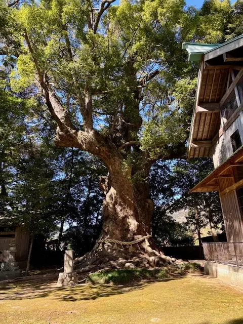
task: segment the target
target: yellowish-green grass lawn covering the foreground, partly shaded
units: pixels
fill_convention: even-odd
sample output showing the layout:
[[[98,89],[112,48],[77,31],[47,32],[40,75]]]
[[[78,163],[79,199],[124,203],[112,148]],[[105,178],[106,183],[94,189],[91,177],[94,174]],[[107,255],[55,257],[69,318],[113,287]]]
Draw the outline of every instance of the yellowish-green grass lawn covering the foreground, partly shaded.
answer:
[[[54,287],[33,281],[0,286],[0,323],[243,323],[243,294],[203,275],[129,287]]]

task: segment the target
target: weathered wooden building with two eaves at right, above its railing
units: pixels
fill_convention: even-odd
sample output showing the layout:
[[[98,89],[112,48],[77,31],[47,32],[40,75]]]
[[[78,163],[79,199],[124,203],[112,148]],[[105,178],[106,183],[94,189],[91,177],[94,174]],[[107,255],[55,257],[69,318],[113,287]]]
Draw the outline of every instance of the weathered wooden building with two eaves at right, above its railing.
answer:
[[[215,170],[190,192],[218,191],[228,242],[243,242],[243,35],[220,45],[183,43],[200,61],[188,158]]]

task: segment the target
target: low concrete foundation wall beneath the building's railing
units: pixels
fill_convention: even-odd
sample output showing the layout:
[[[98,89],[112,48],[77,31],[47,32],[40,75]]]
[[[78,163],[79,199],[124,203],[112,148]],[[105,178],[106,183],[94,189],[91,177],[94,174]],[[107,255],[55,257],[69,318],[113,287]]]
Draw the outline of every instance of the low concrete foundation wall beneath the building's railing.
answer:
[[[205,262],[205,274],[218,278],[228,285],[243,288],[243,268],[229,266],[212,261]]]

